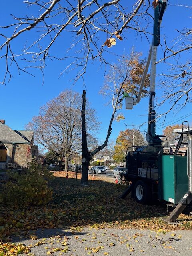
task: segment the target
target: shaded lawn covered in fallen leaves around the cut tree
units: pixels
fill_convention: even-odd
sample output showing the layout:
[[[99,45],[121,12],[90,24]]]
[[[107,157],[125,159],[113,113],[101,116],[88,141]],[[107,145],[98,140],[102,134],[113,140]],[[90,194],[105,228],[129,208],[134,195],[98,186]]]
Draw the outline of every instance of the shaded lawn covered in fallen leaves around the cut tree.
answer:
[[[63,172],[56,173],[64,176]],[[17,208],[0,206],[0,236],[7,238],[22,234],[29,236],[37,228],[138,228],[159,230],[192,229],[192,217],[180,215],[182,224],[168,225],[160,217],[166,216],[164,205],[141,205],[134,199],[119,199],[125,187],[109,182],[90,180],[90,186],[80,186],[69,173],[55,177],[50,186],[54,190],[52,202],[44,206]],[[66,174],[65,174],[66,176]]]

